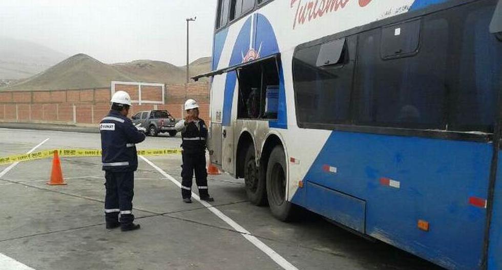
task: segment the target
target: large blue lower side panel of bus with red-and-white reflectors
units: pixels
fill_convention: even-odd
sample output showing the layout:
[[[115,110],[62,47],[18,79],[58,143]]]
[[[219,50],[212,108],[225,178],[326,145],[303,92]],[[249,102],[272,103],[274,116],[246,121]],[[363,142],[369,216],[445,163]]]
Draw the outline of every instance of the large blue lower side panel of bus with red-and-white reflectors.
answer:
[[[303,181],[366,201],[368,235],[447,268],[472,270],[482,258],[486,209],[479,201],[487,196],[491,158],[488,143],[334,131]],[[292,201],[308,207],[315,199],[309,188]]]

